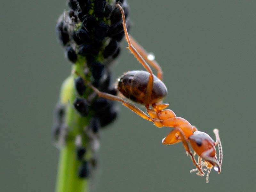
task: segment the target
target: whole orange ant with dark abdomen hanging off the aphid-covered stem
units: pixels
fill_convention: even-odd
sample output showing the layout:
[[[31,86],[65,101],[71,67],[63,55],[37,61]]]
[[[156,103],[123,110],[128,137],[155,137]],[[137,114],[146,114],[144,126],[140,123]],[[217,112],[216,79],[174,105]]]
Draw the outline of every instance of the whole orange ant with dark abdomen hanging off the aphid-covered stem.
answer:
[[[206,183],[208,183],[209,174],[212,167],[214,167],[214,170],[218,171],[218,173],[221,171],[222,147],[218,129],[213,130],[216,137],[216,141],[214,142],[214,140],[212,140],[208,134],[199,132],[197,128],[192,126],[186,119],[177,117],[170,109],[165,109],[169,106],[169,104],[163,104],[161,102],[167,95],[167,88],[161,81],[163,74],[162,69],[155,60],[148,59],[148,53],[131,36],[128,35],[125,24],[124,10],[119,3],[117,3],[116,6],[122,13],[122,24],[126,41],[128,43],[127,48],[147,70],[129,71],[124,73],[124,75],[118,79],[117,89],[126,98],[145,105],[148,115],[121,97],[100,92],[97,88],[92,86],[92,84],[87,84],[94,90],[94,92],[98,94],[99,97],[121,101],[125,107],[131,109],[142,118],[152,121],[157,127],[174,127],[174,129],[162,140],[162,143],[174,144],[182,141],[187,155],[191,157],[192,162],[196,165],[196,169],[193,169],[190,172],[197,172],[197,175],[204,176],[204,171],[208,170],[206,175]],[[156,69],[157,77],[153,75],[150,66],[145,60],[149,63],[149,65]],[[79,75],[78,73],[76,74]],[[152,108],[149,108],[150,105]],[[188,143],[190,143],[191,147],[195,151],[195,154],[198,155],[198,163],[190,151]],[[217,160],[216,157],[216,145],[218,145],[219,148],[219,160]]]

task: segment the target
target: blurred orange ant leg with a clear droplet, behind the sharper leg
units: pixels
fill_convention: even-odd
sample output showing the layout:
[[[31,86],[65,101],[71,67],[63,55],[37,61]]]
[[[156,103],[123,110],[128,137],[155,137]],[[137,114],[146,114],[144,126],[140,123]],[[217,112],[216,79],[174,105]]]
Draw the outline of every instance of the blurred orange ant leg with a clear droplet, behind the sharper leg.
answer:
[[[163,71],[160,67],[160,65],[156,62],[156,60],[149,60],[148,59],[148,52],[143,49],[143,47],[136,42],[136,40],[130,35],[131,44],[134,46],[134,48],[140,53],[141,57],[148,62],[149,65],[151,65],[153,68],[157,71],[157,77],[158,79],[162,80],[163,78]]]

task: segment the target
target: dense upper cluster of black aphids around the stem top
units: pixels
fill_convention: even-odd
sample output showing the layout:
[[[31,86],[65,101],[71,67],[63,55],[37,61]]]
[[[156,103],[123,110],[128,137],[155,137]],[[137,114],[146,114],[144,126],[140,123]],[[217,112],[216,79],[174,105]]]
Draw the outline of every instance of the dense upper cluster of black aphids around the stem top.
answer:
[[[126,1],[121,2],[123,2],[126,20],[130,26],[128,5]],[[116,1],[112,1],[108,4],[106,0],[68,1],[70,10],[60,16],[57,24],[57,34],[61,45],[69,46],[66,49],[68,60],[75,63],[80,55],[85,57],[87,63],[90,64],[89,62],[99,60],[102,51],[104,57],[100,58],[101,60],[107,58],[111,60],[117,57],[120,52],[119,42],[124,37],[124,29],[121,21],[122,15],[115,7],[115,3]]]

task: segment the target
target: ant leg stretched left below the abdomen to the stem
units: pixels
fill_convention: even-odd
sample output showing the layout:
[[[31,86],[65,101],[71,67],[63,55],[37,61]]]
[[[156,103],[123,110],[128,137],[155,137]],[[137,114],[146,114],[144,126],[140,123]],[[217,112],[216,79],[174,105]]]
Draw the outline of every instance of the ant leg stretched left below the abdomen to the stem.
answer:
[[[104,98],[110,99],[110,100],[121,101],[125,107],[131,109],[133,112],[137,113],[142,118],[147,119],[148,121],[152,121],[151,117],[149,117],[146,113],[144,113],[143,111],[141,111],[139,108],[137,108],[135,105],[132,105],[128,101],[123,100],[121,97],[101,92],[96,87],[94,87],[92,84],[90,84],[90,83],[87,83],[87,84],[93,89],[94,92],[96,92],[98,94],[99,97],[104,97]]]

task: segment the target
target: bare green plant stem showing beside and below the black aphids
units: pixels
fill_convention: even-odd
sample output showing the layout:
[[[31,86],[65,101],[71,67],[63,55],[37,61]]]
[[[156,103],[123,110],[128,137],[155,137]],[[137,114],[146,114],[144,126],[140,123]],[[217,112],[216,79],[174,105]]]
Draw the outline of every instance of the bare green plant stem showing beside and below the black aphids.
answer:
[[[72,68],[83,74],[84,61],[78,61]],[[76,98],[76,90],[74,87],[74,78],[76,74],[73,72],[63,82],[60,91],[60,102],[66,105],[65,123],[67,125],[67,138],[65,146],[60,150],[60,159],[56,183],[56,192],[85,192],[88,191],[88,179],[78,177],[79,165],[81,161],[76,159],[75,138],[80,135],[82,145],[88,146],[88,138],[84,134],[84,127],[88,125],[91,115],[86,117],[80,116],[74,109],[72,103]],[[86,95],[84,96],[86,98]],[[88,156],[87,156],[88,157]]]

